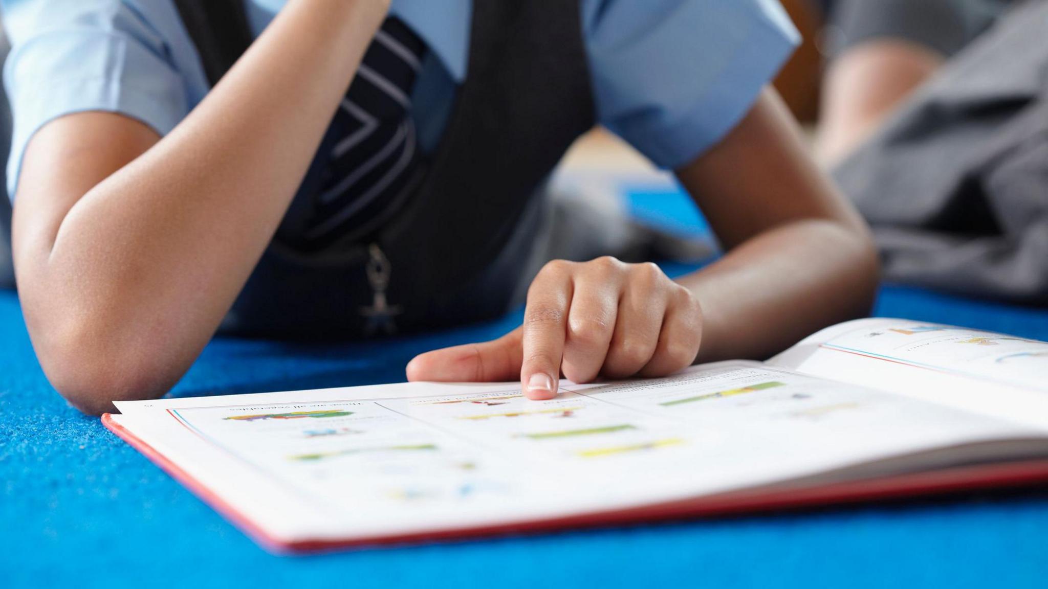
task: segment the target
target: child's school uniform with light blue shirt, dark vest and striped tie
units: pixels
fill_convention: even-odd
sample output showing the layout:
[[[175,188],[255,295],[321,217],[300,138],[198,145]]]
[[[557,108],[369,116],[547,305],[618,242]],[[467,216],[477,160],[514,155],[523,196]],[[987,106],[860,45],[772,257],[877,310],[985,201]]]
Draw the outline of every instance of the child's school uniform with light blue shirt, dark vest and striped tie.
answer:
[[[0,4],[10,194],[46,122],[105,110],[162,135],[221,74],[184,3]],[[246,0],[250,35],[282,4]],[[660,167],[689,162],[796,37],[774,0],[394,0],[224,328],[342,335],[504,312],[546,222],[537,194],[580,134],[599,123]]]

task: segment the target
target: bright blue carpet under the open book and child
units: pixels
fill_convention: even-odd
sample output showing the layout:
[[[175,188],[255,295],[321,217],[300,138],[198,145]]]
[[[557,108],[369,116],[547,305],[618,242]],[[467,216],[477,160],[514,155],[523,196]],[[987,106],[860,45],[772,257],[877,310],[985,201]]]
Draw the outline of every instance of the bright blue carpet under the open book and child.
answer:
[[[1048,340],[1048,310],[907,288],[877,314]],[[387,383],[489,325],[384,343],[218,340],[174,394]],[[63,402],[16,297],[0,292],[0,587],[1045,587],[1048,493],[569,531],[320,557],[274,557],[137,452]]]

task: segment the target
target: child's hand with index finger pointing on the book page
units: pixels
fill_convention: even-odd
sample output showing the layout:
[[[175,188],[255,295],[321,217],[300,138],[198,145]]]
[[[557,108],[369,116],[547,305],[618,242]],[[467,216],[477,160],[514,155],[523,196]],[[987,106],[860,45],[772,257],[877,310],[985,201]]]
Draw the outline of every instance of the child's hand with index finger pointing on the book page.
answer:
[[[702,311],[694,294],[652,263],[614,258],[552,261],[528,290],[524,325],[482,344],[444,348],[408,364],[410,380],[498,381],[520,376],[524,393],[552,398],[561,373],[661,376],[699,351]]]

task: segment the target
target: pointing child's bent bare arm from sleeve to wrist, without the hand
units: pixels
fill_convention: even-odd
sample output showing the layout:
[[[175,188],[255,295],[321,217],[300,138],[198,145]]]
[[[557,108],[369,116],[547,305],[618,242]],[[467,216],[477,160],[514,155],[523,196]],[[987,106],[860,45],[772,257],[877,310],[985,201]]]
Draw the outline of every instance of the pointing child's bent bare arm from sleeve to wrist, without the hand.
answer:
[[[678,281],[702,306],[700,362],[766,357],[869,312],[878,278],[869,230],[773,92],[677,175],[727,249]]]

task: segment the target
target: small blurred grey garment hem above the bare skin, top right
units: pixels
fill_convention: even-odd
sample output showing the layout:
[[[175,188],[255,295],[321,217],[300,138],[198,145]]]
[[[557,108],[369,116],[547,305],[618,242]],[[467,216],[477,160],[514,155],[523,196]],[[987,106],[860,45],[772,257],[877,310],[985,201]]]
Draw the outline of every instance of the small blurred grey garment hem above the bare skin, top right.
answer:
[[[829,50],[892,38],[953,56],[986,30],[1012,0],[821,0]]]

